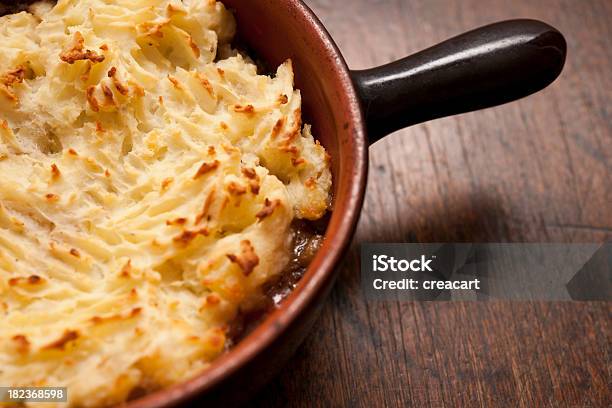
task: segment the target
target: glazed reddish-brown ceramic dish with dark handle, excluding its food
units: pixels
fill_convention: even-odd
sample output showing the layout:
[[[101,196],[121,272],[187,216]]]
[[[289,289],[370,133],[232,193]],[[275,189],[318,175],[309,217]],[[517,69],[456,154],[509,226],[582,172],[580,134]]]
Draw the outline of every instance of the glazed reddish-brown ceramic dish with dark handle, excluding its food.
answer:
[[[369,143],[404,126],[526,96],[551,83],[565,61],[557,30],[513,20],[383,67],[350,71],[301,1],[223,2],[235,13],[241,40],[269,67],[293,61],[305,121],[332,157],[333,213],[320,251],[278,309],[200,375],[130,401],[131,408],[231,406],[252,397],[294,353],[334,283],[361,211]]]

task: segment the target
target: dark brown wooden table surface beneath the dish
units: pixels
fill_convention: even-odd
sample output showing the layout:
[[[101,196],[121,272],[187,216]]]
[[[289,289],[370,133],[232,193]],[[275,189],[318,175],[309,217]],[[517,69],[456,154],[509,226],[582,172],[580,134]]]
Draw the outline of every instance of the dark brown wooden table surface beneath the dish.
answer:
[[[305,343],[254,406],[606,407],[611,303],[369,302],[359,243],[612,236],[612,1],[309,0],[351,68],[529,17],[568,41],[537,95],[370,148],[363,214]]]

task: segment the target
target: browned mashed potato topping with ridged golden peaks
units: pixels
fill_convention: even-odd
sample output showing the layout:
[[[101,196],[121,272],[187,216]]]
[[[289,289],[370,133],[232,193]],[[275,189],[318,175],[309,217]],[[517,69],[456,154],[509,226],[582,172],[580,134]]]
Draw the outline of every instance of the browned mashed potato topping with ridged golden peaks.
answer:
[[[71,405],[184,380],[328,208],[291,62],[258,75],[204,0],[0,18],[0,385]]]

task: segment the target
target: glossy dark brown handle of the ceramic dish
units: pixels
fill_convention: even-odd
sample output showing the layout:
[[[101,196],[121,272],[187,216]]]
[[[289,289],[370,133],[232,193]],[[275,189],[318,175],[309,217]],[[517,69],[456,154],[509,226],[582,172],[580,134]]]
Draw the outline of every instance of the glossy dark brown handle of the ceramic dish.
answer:
[[[370,143],[406,126],[510,102],[563,69],[563,35],[536,20],[509,20],[451,38],[381,67],[352,71]]]

